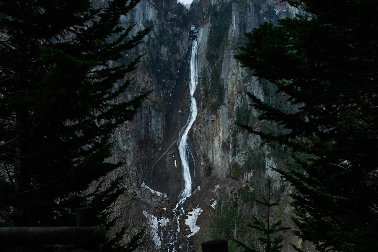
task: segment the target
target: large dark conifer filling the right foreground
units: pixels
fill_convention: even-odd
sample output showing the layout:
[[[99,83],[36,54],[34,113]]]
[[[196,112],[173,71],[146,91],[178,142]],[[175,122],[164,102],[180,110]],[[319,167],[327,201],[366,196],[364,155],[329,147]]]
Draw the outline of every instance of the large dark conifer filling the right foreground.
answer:
[[[296,157],[302,170],[277,169],[298,192],[291,195],[296,235],[319,251],[376,251],[378,5],[287,2],[309,16],[264,23],[247,34],[249,42],[235,56],[288,97],[271,107],[250,95],[262,111],[259,119],[285,133],[249,130],[308,155]]]

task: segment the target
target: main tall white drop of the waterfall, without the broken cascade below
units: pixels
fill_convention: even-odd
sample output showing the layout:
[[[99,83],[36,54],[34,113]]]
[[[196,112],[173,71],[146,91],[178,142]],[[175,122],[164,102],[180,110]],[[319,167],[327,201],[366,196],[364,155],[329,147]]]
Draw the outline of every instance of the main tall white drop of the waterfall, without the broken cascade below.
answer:
[[[190,59],[191,81],[189,84],[189,92],[190,92],[190,99],[191,99],[191,106],[190,106],[191,113],[187,119],[185,126],[180,131],[180,135],[179,135],[179,139],[177,143],[178,151],[179,151],[180,159],[181,159],[181,164],[183,167],[183,179],[184,179],[184,189],[180,194],[181,198],[189,197],[192,194],[192,178],[191,178],[190,170],[189,170],[189,154],[191,156],[193,155],[187,143],[187,136],[188,136],[189,130],[191,129],[197,117],[197,102],[193,97],[195,88],[197,87],[197,83],[198,83],[198,66],[197,65],[198,65],[197,40],[193,40],[192,53],[191,53],[191,59]]]

